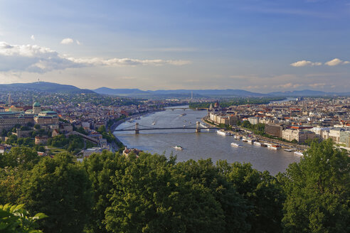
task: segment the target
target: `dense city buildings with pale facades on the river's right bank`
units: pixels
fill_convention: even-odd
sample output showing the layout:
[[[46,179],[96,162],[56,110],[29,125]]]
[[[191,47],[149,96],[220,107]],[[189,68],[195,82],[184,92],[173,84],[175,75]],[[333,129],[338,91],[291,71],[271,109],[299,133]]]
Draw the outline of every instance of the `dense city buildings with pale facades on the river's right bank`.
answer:
[[[265,134],[303,143],[333,139],[350,147],[350,98],[299,98],[270,104],[245,104],[221,108],[216,102],[208,119],[235,126],[237,121],[265,124]]]

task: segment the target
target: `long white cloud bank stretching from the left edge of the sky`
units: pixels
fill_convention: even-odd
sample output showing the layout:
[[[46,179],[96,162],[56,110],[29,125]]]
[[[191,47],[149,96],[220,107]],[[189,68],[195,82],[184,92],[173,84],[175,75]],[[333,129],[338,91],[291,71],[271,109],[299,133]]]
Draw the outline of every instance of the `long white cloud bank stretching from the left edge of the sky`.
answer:
[[[10,45],[0,42],[0,72],[27,71],[49,72],[75,67],[92,66],[137,66],[137,65],[186,65],[188,60],[140,60],[132,58],[68,58],[51,48],[38,45]]]

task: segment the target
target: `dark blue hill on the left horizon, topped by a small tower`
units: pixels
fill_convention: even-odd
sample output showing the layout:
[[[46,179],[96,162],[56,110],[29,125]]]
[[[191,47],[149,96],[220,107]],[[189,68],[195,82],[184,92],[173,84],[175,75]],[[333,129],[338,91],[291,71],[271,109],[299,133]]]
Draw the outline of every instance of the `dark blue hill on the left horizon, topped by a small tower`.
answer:
[[[92,90],[80,89],[73,85],[61,85],[53,82],[31,82],[31,83],[12,83],[0,85],[1,92],[52,92],[65,94],[94,93]]]

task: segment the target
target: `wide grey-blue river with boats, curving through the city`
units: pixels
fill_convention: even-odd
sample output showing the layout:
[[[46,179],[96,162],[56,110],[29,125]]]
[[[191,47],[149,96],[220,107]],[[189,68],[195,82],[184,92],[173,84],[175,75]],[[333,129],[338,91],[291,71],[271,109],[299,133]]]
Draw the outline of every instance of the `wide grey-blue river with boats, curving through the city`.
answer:
[[[184,114],[185,113],[185,114]],[[181,116],[184,114],[184,116]],[[139,128],[148,127],[183,127],[196,124],[207,114],[206,111],[184,110],[166,110],[147,114],[134,122],[125,122],[120,124],[117,129],[124,129],[128,126],[134,126],[139,123]],[[194,126],[195,127],[195,126]],[[240,163],[251,163],[253,168],[258,170],[268,170],[272,175],[278,172],[285,172],[290,163],[298,162],[299,157],[294,153],[284,150],[271,150],[261,146],[254,146],[243,141],[233,139],[233,136],[221,136],[215,131],[202,131],[195,133],[194,129],[173,129],[140,131],[134,134],[134,131],[115,132],[124,145],[129,148],[139,148],[149,153],[165,153],[170,156],[171,153],[177,156],[177,161],[186,161],[189,159],[198,160],[200,158],[212,158],[213,161],[227,160],[228,163],[238,161]],[[235,148],[230,146],[231,142],[238,143],[243,147]],[[176,151],[174,146],[182,146],[184,150]]]

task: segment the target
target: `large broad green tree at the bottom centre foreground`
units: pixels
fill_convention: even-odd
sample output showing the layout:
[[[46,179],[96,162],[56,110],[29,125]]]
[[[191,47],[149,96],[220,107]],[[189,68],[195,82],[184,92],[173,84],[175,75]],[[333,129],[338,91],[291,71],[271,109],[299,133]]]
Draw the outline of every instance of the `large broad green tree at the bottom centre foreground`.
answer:
[[[144,154],[112,178],[111,232],[223,232],[225,215],[213,190],[178,170],[174,159]],[[234,200],[234,199],[232,199]],[[244,219],[244,217],[243,217]]]

